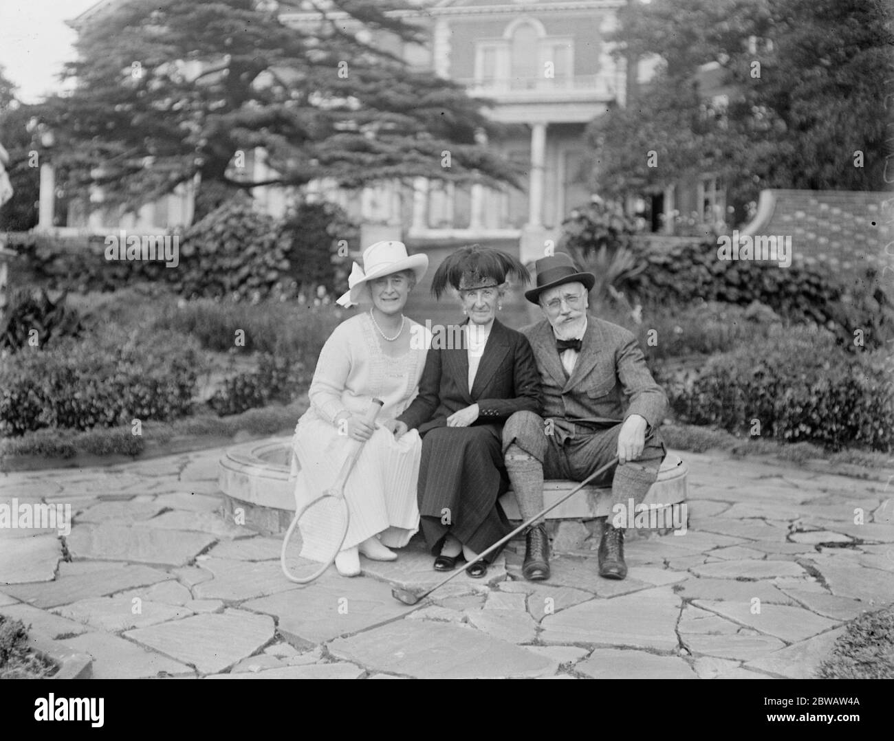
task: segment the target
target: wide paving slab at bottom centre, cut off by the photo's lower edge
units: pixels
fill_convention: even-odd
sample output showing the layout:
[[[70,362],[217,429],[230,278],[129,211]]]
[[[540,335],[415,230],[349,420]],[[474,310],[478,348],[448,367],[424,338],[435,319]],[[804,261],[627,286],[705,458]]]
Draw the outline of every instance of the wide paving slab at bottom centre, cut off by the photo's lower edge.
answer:
[[[339,638],[329,653],[369,670],[415,678],[528,678],[549,676],[558,662],[477,630],[421,620]]]

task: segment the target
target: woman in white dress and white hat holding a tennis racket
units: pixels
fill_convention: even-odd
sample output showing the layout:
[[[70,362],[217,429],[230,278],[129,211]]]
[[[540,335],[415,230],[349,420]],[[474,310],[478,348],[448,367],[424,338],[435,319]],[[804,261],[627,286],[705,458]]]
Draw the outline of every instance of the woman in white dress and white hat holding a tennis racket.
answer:
[[[338,303],[371,306],[339,324],[326,341],[308,392],[310,408],[292,439],[299,504],[334,483],[357,444],[351,441],[365,443],[344,488],[350,525],[335,567],[345,577],[360,573],[359,553],[396,559],[390,549],[406,545],[419,526],[422,441],[415,431],[395,440],[383,425],[409,406],[425,366],[430,338],[425,327],[403,316],[403,307],[427,267],[428,257],[409,256],[398,241],[364,250],[363,268],[354,263],[350,290]],[[369,425],[363,417],[374,398],[384,406],[376,424]],[[315,549],[308,545],[301,555],[325,560],[325,548]]]

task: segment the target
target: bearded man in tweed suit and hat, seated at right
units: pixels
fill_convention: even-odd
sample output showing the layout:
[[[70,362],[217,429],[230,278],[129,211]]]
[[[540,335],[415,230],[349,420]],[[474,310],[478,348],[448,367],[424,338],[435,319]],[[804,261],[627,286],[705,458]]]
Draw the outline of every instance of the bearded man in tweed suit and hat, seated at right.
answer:
[[[583,481],[617,455],[602,481],[616,505],[640,504],[666,454],[658,432],[667,396],[645,366],[636,337],[617,324],[587,316],[595,275],[581,273],[561,252],[536,262],[536,288],[525,298],[544,320],[524,327],[544,392],[544,414],[513,414],[503,427],[503,454],[521,516],[544,509],[544,476]],[[633,512],[628,513],[633,517]],[[629,520],[628,520],[629,521]],[[543,521],[527,529],[522,573],[549,578],[549,541]],[[599,574],[627,576],[624,531],[606,518]]]

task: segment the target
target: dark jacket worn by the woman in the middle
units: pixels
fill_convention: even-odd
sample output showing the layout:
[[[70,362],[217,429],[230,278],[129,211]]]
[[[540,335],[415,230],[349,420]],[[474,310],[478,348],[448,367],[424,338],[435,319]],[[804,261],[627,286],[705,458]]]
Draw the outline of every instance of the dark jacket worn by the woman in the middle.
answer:
[[[433,347],[428,350],[416,399],[397,418],[409,429],[417,428],[419,434],[425,434],[434,427],[446,426],[447,417],[476,403],[479,412],[474,425],[502,424],[522,410],[535,414],[542,411],[540,378],[531,346],[522,333],[497,319],[493,320],[471,392],[468,349]]]

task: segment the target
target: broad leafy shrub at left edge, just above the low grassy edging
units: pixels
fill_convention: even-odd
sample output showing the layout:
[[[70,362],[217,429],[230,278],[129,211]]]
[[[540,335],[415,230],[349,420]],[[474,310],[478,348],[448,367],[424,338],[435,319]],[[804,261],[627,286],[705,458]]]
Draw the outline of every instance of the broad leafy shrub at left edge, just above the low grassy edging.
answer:
[[[116,328],[19,352],[0,359],[0,434],[182,417],[201,366],[189,337]]]

